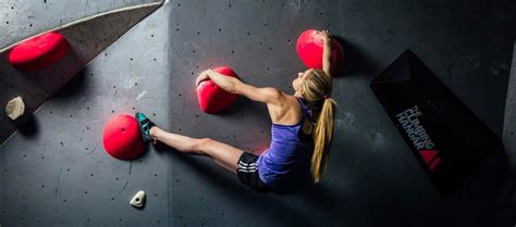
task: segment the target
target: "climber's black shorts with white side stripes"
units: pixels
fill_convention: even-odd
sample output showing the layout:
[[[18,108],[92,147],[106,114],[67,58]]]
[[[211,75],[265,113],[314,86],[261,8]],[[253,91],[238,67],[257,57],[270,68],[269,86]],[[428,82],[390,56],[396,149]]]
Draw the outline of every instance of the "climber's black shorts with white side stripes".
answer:
[[[236,175],[241,181],[258,192],[269,192],[266,184],[260,179],[258,175],[258,156],[248,152],[244,152],[238,159],[238,167],[236,168]]]

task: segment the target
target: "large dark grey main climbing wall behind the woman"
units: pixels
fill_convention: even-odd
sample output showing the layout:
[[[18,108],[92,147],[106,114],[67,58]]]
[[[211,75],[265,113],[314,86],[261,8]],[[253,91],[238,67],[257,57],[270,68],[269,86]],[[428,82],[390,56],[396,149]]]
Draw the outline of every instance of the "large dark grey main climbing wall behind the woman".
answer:
[[[442,198],[369,89],[411,48],[502,136],[514,41],[512,1],[173,0],[136,25],[35,114],[34,133],[0,147],[2,226],[513,226],[507,178],[492,155]],[[194,81],[230,65],[245,81],[285,92],[303,64],[296,37],[329,28],[346,72],[334,79],[340,112],[329,172],[297,194],[259,194],[201,156],[149,147],[131,162],[109,156],[103,124],[143,111],[162,127],[265,149],[262,104],[239,99],[200,112]],[[504,178],[505,177],[505,178]],[[128,205],[138,190],[147,205]]]

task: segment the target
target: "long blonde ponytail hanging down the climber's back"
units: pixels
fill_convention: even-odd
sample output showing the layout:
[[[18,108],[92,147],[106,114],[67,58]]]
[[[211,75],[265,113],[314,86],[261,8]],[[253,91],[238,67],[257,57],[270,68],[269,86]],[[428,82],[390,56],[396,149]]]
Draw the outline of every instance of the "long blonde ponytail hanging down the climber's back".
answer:
[[[332,98],[324,99],[312,134],[315,149],[311,156],[311,175],[314,182],[319,182],[327,169],[330,143],[333,137],[335,105],[336,103]]]

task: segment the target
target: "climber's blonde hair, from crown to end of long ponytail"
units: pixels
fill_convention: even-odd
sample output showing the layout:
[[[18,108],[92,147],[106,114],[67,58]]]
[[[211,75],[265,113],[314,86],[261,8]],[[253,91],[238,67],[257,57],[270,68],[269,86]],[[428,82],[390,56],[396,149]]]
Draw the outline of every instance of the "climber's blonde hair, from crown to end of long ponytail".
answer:
[[[332,77],[321,70],[309,70],[306,79],[300,85],[300,94],[315,108],[319,116],[316,121],[314,137],[314,154],[311,156],[311,175],[314,182],[319,182],[325,173],[330,143],[333,137],[333,122],[336,102],[330,97]],[[322,106],[321,103],[322,102]],[[318,103],[318,104],[314,104]]]

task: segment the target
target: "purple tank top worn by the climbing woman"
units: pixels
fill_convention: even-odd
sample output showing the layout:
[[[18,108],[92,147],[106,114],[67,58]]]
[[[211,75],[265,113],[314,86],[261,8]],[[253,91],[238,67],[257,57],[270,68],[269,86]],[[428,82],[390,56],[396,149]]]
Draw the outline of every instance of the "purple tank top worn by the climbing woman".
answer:
[[[303,133],[305,119],[311,122],[310,110],[296,97],[303,116],[295,125],[272,124],[271,144],[258,157],[258,174],[269,189],[280,193],[294,192],[311,181],[310,161],[314,153],[311,135]]]

